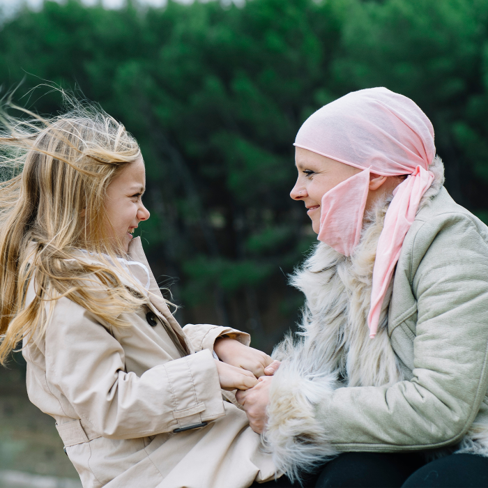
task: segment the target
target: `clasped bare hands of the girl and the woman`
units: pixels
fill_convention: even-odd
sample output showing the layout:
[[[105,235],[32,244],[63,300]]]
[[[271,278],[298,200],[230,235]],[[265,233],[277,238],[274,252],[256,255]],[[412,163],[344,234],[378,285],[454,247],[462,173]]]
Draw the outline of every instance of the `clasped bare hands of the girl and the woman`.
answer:
[[[219,337],[213,350],[220,359],[215,363],[221,388],[237,390],[236,399],[243,406],[252,430],[261,434],[266,425],[271,379],[280,361],[273,361],[268,354],[230,337]]]

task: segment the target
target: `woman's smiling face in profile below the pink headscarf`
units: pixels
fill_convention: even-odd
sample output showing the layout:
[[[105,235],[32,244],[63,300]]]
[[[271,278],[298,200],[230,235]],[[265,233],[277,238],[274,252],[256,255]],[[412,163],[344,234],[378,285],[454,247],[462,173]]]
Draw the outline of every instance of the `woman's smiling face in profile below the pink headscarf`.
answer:
[[[307,214],[312,220],[312,229],[316,234],[320,230],[320,211],[323,195],[342,181],[363,171],[335,161],[303,148],[295,148],[298,178],[290,197],[303,200]]]

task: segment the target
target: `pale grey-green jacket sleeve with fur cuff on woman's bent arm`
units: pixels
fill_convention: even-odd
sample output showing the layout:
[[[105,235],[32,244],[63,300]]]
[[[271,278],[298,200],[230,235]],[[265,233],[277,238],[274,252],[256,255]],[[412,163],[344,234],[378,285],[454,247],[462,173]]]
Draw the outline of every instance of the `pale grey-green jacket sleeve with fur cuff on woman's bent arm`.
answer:
[[[335,389],[332,378],[296,379],[282,364],[273,378],[268,424],[280,467],[293,465],[293,446],[294,456],[301,449],[310,466],[343,451],[441,448],[460,441],[471,426],[488,388],[486,236],[463,214],[438,216],[416,232],[406,271],[413,275],[418,313],[413,378]],[[287,396],[285,411],[280,398]],[[293,405],[302,409],[294,424]]]

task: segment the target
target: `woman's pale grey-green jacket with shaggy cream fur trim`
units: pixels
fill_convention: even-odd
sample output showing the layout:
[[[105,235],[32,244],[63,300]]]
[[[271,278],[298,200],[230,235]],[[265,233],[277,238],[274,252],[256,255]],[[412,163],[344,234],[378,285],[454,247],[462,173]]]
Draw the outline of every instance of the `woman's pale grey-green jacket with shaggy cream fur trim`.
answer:
[[[488,228],[443,188],[439,159],[434,167],[375,339],[366,317],[388,203],[352,258],[321,243],[296,274],[305,337],[275,354],[284,362],[268,408],[278,467],[344,451],[488,455]]]

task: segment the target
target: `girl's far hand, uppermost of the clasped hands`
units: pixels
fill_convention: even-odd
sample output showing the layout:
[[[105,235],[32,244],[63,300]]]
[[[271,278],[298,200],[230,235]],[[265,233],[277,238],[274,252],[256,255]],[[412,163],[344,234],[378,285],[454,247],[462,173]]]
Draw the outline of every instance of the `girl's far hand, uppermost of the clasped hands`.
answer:
[[[273,360],[268,354],[252,347],[245,346],[244,344],[241,344],[241,342],[231,339],[230,337],[218,337],[218,339],[215,340],[213,350],[218,358],[224,363],[247,369],[247,371],[252,372],[257,378],[275,372],[275,370],[272,369],[265,372],[265,369],[273,363]]]

